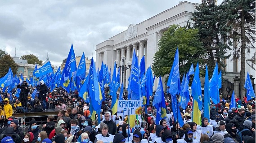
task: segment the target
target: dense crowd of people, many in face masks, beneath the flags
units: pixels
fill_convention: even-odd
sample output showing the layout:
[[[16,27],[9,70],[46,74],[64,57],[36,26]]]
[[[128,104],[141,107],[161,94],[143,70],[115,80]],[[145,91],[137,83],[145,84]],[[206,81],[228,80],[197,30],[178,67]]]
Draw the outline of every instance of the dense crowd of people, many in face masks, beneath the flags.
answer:
[[[44,82],[40,83],[43,87]],[[4,94],[0,89],[3,100],[1,143],[255,143],[255,99],[247,101],[235,97],[237,108],[229,108],[230,95],[218,104],[211,101],[210,118],[203,117],[202,109],[202,122],[198,125],[192,120],[191,98],[185,109],[180,108],[184,124],[180,126],[181,123],[174,121],[170,95],[167,94],[165,119],[156,122],[157,110],[152,105],[153,96],[150,96],[150,104],[142,108],[142,114],[129,121],[128,116],[112,113],[108,88],[105,89],[101,112],[95,116],[90,113],[90,103],[79,97],[78,91],[68,93],[60,87],[51,92],[47,88],[47,91],[39,91],[34,99],[31,94],[36,87],[24,87],[25,95],[15,97],[17,88],[13,89],[12,95]],[[127,100],[126,92],[122,96]],[[27,104],[22,104],[22,101]],[[29,128],[24,133],[19,120],[12,115],[17,107],[26,107],[27,112],[31,112],[38,105],[42,105],[43,110],[59,109],[58,118],[48,116],[44,125],[31,120],[27,122]]]

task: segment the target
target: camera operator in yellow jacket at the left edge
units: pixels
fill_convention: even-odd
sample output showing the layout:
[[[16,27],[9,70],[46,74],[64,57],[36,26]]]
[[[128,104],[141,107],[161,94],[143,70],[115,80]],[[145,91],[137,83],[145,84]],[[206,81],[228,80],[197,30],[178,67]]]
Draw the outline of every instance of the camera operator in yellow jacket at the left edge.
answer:
[[[7,126],[7,119],[13,116],[13,108],[12,105],[9,104],[8,98],[5,98],[4,101],[1,102],[0,115],[0,127],[2,128],[3,125]]]

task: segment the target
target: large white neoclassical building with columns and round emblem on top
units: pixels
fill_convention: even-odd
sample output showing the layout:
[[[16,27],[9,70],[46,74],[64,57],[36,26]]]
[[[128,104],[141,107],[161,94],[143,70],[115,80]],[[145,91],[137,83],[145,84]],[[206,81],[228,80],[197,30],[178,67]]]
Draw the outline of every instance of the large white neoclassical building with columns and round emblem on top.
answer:
[[[149,65],[153,64],[153,56],[158,50],[157,45],[159,39],[162,37],[162,33],[173,24],[185,26],[188,20],[192,17],[192,13],[196,10],[196,5],[198,6],[199,4],[187,1],[182,2],[171,9],[167,9],[162,13],[148,18],[143,22],[130,24],[127,26],[127,30],[97,44],[96,68],[99,67],[100,69],[103,61],[104,64],[107,64],[112,70],[114,68],[114,61],[117,61],[118,66],[122,65],[122,58],[125,58],[124,64],[126,65],[128,61],[132,61],[133,51],[135,51],[139,62],[140,59],[145,56],[147,69]],[[239,75],[240,72],[240,70],[238,70],[240,69],[240,61],[232,61],[231,59],[232,57],[223,61],[227,64],[224,69],[228,73],[225,76],[225,79],[228,79],[230,82],[234,82],[234,76]],[[255,75],[255,69],[248,65],[246,65],[246,71]],[[124,83],[126,87],[128,87],[129,77],[130,69],[127,69],[124,73]],[[163,82],[165,80],[166,79],[163,78]],[[154,83],[154,90],[156,90],[157,85],[158,80]],[[166,89],[164,90],[166,91]]]

